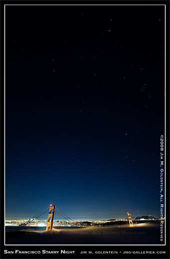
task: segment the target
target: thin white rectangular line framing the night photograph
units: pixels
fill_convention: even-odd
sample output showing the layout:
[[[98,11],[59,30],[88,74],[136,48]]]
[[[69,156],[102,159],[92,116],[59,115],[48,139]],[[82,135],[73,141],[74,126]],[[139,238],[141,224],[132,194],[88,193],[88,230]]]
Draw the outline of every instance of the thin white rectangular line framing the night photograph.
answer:
[[[166,139],[166,4],[4,4],[4,246],[166,246],[166,219],[165,219],[165,245],[153,245],[153,244],[147,244],[147,245],[124,245],[124,244],[121,244],[121,245],[114,245],[114,244],[109,244],[109,245],[69,245],[69,244],[61,244],[61,245],[57,245],[57,244],[53,244],[53,245],[45,245],[45,244],[42,244],[42,245],[18,245],[18,244],[15,244],[15,245],[6,245],[5,244],[5,6],[17,6],[17,5],[35,5],[35,6],[42,6],[42,5],[51,5],[51,6],[56,6],[56,5],[59,5],[59,6],[75,6],[75,5],[81,5],[81,6],[85,6],[85,5],[88,5],[88,6],[113,6],[113,5],[116,5],[116,6],[132,6],[132,5],[135,5],[135,6],[165,6],[165,138]],[[165,143],[165,217],[166,217],[166,143]]]

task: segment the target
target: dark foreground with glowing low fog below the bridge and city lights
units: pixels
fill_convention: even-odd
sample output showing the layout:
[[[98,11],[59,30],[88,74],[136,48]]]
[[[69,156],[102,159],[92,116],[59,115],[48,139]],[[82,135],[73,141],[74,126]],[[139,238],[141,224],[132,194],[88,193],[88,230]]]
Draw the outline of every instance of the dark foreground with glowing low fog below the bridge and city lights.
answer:
[[[160,223],[141,223],[107,227],[87,227],[77,229],[53,229],[51,231],[6,232],[6,245],[117,245],[151,244],[163,245],[160,241]]]

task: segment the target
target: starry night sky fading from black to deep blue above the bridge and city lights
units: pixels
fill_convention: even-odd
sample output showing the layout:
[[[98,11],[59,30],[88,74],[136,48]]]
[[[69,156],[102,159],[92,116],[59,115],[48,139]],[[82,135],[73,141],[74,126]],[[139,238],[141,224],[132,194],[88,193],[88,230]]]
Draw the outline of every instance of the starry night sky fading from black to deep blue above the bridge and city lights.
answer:
[[[6,219],[159,217],[165,6],[5,9]]]

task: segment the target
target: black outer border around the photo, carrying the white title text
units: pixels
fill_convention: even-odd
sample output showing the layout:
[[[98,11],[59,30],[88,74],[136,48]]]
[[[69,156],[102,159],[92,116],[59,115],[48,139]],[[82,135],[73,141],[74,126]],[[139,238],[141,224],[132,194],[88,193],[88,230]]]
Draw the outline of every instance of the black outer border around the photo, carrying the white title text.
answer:
[[[161,4],[166,5],[166,246],[4,246],[4,5],[5,4]],[[0,31],[1,31],[1,41],[0,41],[0,68],[1,68],[1,88],[0,88],[0,96],[1,96],[1,109],[0,109],[0,137],[1,137],[1,146],[0,146],[0,153],[1,153],[1,174],[0,174],[0,182],[1,182],[1,206],[0,206],[0,242],[1,242],[1,249],[0,249],[0,258],[1,259],[10,259],[10,258],[139,258],[139,259],[170,259],[170,159],[169,159],[169,151],[170,151],[170,0],[1,0],[0,1]],[[55,248],[54,248],[55,247]],[[68,250],[68,251],[75,251],[75,254],[62,254],[59,255],[47,255],[47,254],[26,254],[26,255],[19,255],[19,254],[4,254],[4,250],[8,251],[42,251],[42,250]],[[97,254],[95,255],[95,251],[118,251],[118,255],[112,254]],[[92,251],[93,254],[81,254],[80,251]],[[123,251],[140,251],[141,254],[126,254],[123,255]],[[166,254],[143,254],[143,251],[166,251]]]

